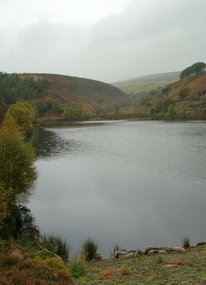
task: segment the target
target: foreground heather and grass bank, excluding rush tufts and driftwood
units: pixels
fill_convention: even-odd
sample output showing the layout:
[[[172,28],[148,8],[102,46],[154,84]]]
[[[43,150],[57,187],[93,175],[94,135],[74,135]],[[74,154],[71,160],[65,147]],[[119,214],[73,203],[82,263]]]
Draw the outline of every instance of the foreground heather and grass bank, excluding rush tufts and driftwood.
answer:
[[[49,254],[39,254],[34,242],[0,242],[1,285],[45,284],[206,284],[206,244],[185,253],[144,254],[124,259],[63,262]],[[81,268],[80,268],[81,266]]]

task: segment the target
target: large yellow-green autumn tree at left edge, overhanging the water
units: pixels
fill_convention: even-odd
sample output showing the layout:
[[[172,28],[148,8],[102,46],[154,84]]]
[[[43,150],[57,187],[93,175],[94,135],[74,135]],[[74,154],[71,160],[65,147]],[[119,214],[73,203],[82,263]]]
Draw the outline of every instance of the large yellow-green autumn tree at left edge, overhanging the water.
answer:
[[[1,187],[6,192],[13,190],[13,201],[25,199],[37,177],[35,154],[9,114],[6,114],[0,129],[0,157]]]

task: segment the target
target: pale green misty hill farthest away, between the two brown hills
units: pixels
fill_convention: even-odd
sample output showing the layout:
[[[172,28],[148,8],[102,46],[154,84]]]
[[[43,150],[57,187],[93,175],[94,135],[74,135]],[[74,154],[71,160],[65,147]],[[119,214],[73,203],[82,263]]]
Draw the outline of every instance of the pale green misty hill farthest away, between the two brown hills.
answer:
[[[126,81],[119,81],[112,83],[113,86],[121,89],[124,93],[139,93],[141,91],[149,91],[156,89],[159,86],[163,87],[169,83],[173,83],[179,80],[180,72],[168,72],[152,74],[149,76],[141,76],[137,78],[131,78]]]

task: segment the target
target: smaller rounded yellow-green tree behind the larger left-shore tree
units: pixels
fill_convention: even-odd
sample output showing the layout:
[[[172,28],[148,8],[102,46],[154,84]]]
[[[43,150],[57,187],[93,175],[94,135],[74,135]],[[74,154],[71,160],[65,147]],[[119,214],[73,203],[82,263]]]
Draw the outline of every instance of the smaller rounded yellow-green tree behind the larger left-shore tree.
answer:
[[[26,139],[30,139],[33,135],[33,120],[35,118],[35,110],[26,102],[18,102],[11,105],[8,113],[15,118],[18,127],[21,129]]]

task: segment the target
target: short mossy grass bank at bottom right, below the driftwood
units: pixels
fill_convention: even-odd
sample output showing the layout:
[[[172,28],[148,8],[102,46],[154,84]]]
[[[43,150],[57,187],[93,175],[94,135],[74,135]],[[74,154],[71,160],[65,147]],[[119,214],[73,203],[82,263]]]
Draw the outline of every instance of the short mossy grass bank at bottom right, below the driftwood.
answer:
[[[75,284],[206,284],[206,245],[185,254],[148,254],[87,263],[87,273]]]

